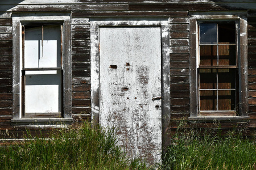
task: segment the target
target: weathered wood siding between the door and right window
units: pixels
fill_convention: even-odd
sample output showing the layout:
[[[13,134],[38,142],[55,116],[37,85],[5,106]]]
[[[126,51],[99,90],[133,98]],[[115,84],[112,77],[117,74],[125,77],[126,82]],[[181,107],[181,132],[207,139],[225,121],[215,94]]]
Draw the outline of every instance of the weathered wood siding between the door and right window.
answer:
[[[170,60],[171,121],[176,121],[189,116],[189,20],[187,15],[170,18]]]

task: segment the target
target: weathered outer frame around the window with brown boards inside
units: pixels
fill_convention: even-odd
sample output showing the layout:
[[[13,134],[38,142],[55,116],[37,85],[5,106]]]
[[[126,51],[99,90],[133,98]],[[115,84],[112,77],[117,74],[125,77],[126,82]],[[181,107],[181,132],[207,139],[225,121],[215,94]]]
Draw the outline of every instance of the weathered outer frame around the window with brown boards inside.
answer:
[[[238,84],[239,93],[239,109],[237,116],[200,116],[199,115],[199,90],[197,68],[199,67],[200,52],[199,52],[199,30],[198,24],[201,22],[225,22],[235,21],[238,24],[240,33],[238,39],[238,76],[240,82]],[[248,101],[247,101],[247,15],[246,12],[192,12],[189,18],[190,24],[190,117],[189,120],[247,120],[248,116]],[[241,81],[242,80],[242,81]],[[214,112],[214,111],[213,111]]]

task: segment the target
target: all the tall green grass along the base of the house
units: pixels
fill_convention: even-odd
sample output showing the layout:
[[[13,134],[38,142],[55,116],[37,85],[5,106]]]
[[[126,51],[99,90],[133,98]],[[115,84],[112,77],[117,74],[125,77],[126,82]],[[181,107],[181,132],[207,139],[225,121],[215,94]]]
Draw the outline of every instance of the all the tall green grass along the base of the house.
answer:
[[[159,169],[256,169],[255,139],[236,130],[216,131],[178,128]],[[218,130],[217,130],[218,132]],[[219,131],[220,132],[220,131]],[[28,136],[28,138],[32,138]],[[80,124],[0,147],[1,169],[151,169],[139,159],[130,161],[117,146],[113,129]]]

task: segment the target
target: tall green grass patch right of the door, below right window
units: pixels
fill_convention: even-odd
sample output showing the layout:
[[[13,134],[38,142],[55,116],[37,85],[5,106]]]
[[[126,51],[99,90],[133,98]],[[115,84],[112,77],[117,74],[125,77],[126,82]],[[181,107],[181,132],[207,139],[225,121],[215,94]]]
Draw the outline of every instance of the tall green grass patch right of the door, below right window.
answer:
[[[180,131],[172,138],[161,169],[256,169],[255,139],[242,136],[238,129],[225,135],[220,130]]]

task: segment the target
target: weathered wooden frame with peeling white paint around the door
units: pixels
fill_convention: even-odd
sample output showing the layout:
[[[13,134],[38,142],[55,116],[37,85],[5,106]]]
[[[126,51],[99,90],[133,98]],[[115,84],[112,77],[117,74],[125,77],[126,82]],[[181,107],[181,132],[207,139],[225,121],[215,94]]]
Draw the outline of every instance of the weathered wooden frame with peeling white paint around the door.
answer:
[[[131,17],[131,18],[90,18],[90,72],[92,126],[100,120],[100,27],[113,26],[160,26],[161,28],[161,86],[162,86],[162,151],[170,145],[170,24],[168,18]]]

